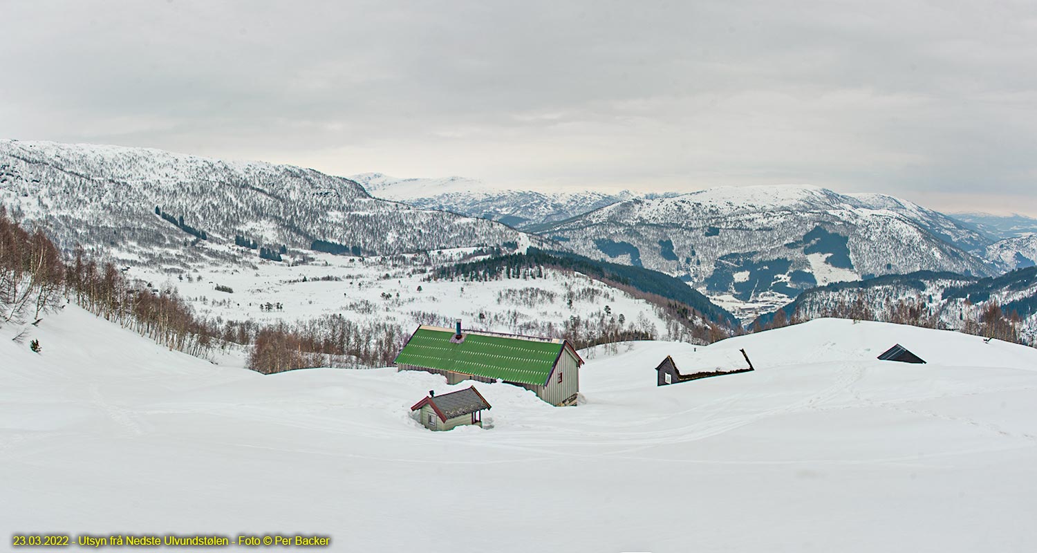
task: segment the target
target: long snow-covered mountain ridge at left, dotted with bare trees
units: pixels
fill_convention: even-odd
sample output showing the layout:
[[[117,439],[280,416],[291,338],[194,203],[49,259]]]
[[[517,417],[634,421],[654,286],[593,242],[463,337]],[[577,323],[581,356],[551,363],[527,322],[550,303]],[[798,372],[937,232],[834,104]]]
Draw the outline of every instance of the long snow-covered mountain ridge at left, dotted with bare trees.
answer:
[[[169,255],[201,232],[212,243],[243,234],[364,254],[530,242],[499,223],[372,198],[313,169],[120,146],[0,140],[0,204],[66,248],[104,246],[130,259]]]

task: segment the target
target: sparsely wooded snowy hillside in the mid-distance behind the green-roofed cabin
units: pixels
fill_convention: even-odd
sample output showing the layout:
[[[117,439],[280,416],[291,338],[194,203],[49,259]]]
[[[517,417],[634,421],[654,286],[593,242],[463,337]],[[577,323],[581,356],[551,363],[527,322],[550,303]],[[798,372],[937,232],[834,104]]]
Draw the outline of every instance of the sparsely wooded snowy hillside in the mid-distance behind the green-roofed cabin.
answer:
[[[241,249],[215,248],[226,250],[225,256]],[[256,325],[299,322],[303,328],[344,334],[346,341],[365,350],[395,352],[418,325],[452,327],[455,319],[467,329],[590,341],[610,332],[694,339],[674,314],[656,305],[584,274],[542,264],[495,280],[437,277],[439,268],[483,257],[473,256],[471,249],[364,258],[314,253],[305,265],[194,264],[183,273],[134,265],[125,275],[155,289],[175,289],[198,315],[221,324],[234,322],[228,329],[254,332]],[[695,323],[706,326],[704,321]]]

